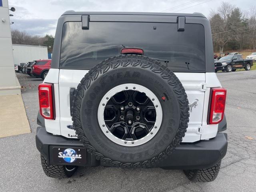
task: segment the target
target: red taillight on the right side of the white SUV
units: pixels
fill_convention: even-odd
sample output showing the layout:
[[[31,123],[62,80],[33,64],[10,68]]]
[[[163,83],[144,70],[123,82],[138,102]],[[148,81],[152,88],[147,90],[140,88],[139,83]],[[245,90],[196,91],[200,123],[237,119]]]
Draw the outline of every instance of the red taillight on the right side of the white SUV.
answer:
[[[224,88],[211,88],[212,99],[210,104],[209,124],[218,124],[223,120],[227,90]]]

